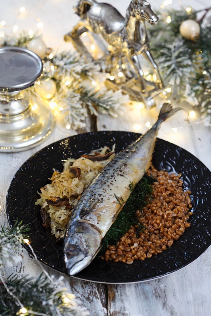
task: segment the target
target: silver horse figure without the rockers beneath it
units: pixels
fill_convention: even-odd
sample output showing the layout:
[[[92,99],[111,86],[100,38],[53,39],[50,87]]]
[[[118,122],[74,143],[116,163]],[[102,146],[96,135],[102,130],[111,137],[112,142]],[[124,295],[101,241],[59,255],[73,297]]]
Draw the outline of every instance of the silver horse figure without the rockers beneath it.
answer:
[[[98,3],[96,0],[79,0],[76,13],[81,20],[68,34],[68,37],[79,52],[84,53],[86,50],[79,39],[82,33],[89,30],[101,34],[106,42],[114,47],[115,56],[127,58],[140,82],[142,92],[146,91],[146,82],[138,58],[140,54],[144,55],[150,62],[157,77],[157,88],[163,88],[158,66],[150,52],[145,25],[145,21],[152,25],[156,24],[158,16],[152,11],[148,2],[143,0],[131,1],[127,8],[126,17],[123,17],[117,9],[108,3]]]

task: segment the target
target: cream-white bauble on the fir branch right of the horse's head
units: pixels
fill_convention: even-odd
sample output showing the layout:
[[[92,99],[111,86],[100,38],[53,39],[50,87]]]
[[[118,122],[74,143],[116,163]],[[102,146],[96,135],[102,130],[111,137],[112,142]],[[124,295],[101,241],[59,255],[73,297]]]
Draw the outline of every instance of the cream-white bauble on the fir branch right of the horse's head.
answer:
[[[199,23],[195,20],[186,20],[181,23],[179,31],[186,40],[194,41],[199,36],[200,29]]]

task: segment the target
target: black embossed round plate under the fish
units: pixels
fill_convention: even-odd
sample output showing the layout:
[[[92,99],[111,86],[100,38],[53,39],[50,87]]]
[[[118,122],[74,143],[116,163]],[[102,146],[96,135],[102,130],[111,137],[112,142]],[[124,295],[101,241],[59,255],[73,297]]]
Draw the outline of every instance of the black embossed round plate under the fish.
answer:
[[[31,246],[41,262],[64,273],[62,247],[56,244],[50,229],[41,224],[40,207],[34,202],[37,191],[48,182],[52,169],[62,171],[63,162],[70,156],[78,158],[92,149],[116,143],[119,151],[132,143],[140,134],[120,131],[85,133],[53,143],[29,158],[15,174],[8,190],[6,210],[10,225],[16,220],[30,226]],[[102,283],[135,283],[154,279],[174,272],[198,258],[211,244],[211,173],[201,161],[186,150],[158,139],[153,165],[157,169],[182,173],[184,189],[192,191],[194,214],[191,226],[164,252],[134,261],[93,262],[76,277]],[[28,246],[25,246],[28,249]]]

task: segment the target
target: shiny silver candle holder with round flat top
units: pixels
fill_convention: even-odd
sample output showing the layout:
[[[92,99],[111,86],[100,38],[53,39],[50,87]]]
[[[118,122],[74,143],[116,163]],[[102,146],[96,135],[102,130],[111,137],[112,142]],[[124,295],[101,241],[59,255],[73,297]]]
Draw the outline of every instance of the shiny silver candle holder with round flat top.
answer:
[[[48,137],[55,119],[29,87],[42,76],[39,56],[25,48],[0,48],[0,151],[32,148]]]

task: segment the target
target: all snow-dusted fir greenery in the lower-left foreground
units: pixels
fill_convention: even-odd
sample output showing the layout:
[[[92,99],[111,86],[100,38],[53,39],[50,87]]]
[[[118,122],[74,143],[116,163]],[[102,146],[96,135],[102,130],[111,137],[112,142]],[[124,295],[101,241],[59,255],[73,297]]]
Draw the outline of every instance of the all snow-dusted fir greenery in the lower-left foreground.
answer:
[[[63,276],[54,280],[54,276],[49,276],[45,270],[46,276],[41,274],[37,278],[19,277],[17,274],[5,276],[5,265],[16,265],[21,259],[15,252],[20,242],[27,242],[27,231],[26,225],[17,222],[13,228],[0,228],[0,315],[89,315],[75,296],[66,292]],[[27,313],[22,313],[22,308]]]

